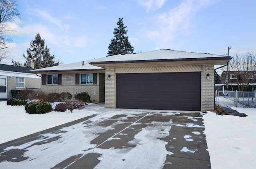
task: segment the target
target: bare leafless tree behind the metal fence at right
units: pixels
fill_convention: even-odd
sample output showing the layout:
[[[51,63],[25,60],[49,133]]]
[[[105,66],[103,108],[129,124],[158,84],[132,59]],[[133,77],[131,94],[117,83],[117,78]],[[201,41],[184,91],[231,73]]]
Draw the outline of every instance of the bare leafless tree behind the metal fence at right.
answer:
[[[233,80],[236,81],[239,91],[244,91],[255,81],[256,78],[256,53],[253,51],[243,53],[242,55],[236,53],[229,63],[230,74]],[[229,78],[231,83],[231,80]]]

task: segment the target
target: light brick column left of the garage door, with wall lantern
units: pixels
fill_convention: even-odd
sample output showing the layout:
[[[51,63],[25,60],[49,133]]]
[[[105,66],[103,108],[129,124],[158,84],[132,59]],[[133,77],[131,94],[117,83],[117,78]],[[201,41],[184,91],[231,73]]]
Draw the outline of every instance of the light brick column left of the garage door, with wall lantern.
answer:
[[[105,107],[116,108],[116,75],[113,67],[106,67],[105,73]],[[108,81],[110,75],[110,81]]]

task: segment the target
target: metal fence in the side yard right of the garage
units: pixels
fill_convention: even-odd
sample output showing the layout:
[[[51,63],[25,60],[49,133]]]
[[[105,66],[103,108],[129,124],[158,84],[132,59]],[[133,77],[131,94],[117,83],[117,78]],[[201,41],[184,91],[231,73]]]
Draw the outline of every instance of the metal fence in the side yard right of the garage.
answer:
[[[253,92],[238,92],[238,91],[221,91],[216,93],[216,104],[219,105],[219,97],[224,97],[234,101],[234,106],[237,107],[238,103],[243,104],[250,108],[256,108],[256,90]]]

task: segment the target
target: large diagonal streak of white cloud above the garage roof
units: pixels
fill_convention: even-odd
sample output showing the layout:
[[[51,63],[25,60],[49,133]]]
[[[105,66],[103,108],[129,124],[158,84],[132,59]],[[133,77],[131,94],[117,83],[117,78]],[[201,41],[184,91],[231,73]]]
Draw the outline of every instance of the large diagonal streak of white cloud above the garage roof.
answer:
[[[191,31],[191,22],[198,12],[215,2],[212,0],[183,1],[176,8],[159,14],[156,29],[148,31],[147,37],[157,40],[157,45],[161,48],[170,47],[171,41],[178,35]]]

